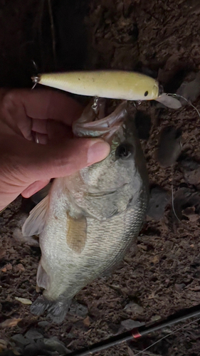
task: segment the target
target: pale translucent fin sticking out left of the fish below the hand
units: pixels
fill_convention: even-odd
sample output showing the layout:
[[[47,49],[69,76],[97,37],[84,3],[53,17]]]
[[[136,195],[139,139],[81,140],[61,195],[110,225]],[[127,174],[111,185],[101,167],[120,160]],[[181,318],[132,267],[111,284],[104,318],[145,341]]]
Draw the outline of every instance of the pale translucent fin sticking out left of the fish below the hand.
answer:
[[[43,231],[48,210],[48,196],[45,197],[33,210],[22,226],[23,236],[39,235]]]

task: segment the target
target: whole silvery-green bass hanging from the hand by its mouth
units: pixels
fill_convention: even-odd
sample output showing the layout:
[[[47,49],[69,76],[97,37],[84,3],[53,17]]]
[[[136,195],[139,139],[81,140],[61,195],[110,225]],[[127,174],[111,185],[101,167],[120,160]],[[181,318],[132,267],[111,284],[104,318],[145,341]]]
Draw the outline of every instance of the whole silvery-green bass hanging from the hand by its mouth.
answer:
[[[54,179],[48,196],[22,228],[39,234],[37,285],[31,313],[47,311],[61,323],[73,297],[88,283],[115,271],[144,222],[149,199],[147,167],[134,120],[122,102],[105,115],[105,99],[89,104],[73,124],[77,137],[102,137],[110,154],[69,177]]]

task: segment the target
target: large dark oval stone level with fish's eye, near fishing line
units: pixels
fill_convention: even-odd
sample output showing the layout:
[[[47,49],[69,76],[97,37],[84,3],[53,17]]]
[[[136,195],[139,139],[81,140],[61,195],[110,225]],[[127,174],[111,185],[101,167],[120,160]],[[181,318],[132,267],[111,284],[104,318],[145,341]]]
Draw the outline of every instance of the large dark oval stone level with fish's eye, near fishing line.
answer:
[[[174,126],[162,129],[159,135],[159,147],[155,158],[161,167],[172,166],[181,153],[181,130]]]

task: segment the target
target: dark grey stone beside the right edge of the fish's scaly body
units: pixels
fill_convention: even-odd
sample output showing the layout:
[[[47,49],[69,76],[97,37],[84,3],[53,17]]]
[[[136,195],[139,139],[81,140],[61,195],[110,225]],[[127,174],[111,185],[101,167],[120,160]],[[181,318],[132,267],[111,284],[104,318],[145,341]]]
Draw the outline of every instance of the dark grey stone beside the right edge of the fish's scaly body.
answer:
[[[147,215],[158,221],[164,216],[164,210],[169,202],[169,194],[162,187],[154,187],[150,191]]]

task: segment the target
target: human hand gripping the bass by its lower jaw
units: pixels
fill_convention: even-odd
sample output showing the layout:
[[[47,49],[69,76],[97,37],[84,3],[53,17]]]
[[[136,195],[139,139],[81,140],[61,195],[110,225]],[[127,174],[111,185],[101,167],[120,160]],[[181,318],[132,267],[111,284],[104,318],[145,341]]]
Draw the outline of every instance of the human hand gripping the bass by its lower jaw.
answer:
[[[108,155],[100,139],[73,138],[71,125],[81,112],[75,100],[54,90],[1,90],[0,211],[19,194],[31,197],[51,178]]]

